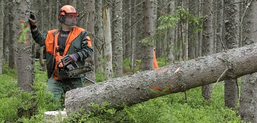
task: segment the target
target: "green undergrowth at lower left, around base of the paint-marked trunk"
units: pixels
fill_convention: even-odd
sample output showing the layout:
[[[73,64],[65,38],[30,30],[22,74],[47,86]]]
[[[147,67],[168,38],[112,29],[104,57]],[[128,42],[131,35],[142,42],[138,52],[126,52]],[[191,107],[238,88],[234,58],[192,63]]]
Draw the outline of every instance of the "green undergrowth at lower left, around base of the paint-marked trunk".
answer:
[[[39,64],[37,63],[36,65]],[[4,63],[3,71],[3,74],[0,75],[0,121],[5,123],[44,123],[42,122],[43,113],[58,106],[58,104],[52,103],[52,93],[45,91],[46,72],[36,69],[34,91],[24,92],[17,87],[16,69],[9,69]],[[32,118],[19,118],[17,114],[20,111],[32,111],[35,115]]]

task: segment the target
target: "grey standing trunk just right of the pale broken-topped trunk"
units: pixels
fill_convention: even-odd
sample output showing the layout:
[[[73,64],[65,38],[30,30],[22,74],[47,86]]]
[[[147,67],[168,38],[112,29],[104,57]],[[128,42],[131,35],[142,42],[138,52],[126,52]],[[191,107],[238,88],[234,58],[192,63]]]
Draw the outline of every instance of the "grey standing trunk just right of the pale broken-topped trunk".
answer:
[[[114,0],[114,65],[115,77],[121,77],[123,67],[123,46],[122,46],[122,0]]]

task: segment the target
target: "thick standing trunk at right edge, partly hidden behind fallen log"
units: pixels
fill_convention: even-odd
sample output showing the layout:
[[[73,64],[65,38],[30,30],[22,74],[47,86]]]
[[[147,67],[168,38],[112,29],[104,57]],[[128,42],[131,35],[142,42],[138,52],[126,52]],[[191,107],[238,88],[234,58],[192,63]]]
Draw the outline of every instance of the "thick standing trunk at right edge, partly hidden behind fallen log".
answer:
[[[245,2],[247,5],[248,2]],[[245,6],[246,7],[246,6]],[[245,45],[257,42],[257,1],[253,0],[244,15],[244,43]],[[248,67],[246,67],[248,69]],[[257,73],[242,77],[239,115],[245,122],[257,123]]]

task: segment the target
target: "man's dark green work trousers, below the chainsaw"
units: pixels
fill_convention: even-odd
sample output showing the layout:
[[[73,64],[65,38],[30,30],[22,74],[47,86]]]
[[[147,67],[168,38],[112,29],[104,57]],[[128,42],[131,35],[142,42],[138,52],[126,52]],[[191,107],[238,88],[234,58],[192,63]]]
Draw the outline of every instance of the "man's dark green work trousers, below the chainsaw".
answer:
[[[66,93],[67,91],[76,89],[76,88],[82,88],[84,83],[84,77],[81,78],[71,78],[71,79],[64,79],[64,80],[53,80],[53,76],[47,80],[47,87],[46,90],[53,93],[54,99],[57,99],[57,101],[60,101],[61,96],[63,93]]]

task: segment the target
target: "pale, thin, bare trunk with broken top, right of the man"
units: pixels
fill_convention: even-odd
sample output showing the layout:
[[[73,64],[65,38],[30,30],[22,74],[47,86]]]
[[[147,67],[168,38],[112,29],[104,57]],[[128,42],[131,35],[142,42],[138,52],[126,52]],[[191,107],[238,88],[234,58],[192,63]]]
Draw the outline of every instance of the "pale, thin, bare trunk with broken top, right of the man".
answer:
[[[104,6],[104,9],[103,9],[103,37],[104,37],[105,80],[110,80],[113,78],[113,69],[112,69],[111,22],[110,22],[110,11],[108,6]]]

